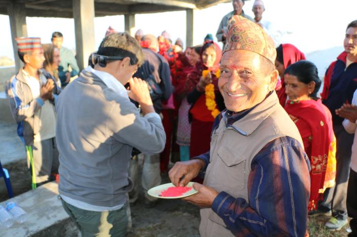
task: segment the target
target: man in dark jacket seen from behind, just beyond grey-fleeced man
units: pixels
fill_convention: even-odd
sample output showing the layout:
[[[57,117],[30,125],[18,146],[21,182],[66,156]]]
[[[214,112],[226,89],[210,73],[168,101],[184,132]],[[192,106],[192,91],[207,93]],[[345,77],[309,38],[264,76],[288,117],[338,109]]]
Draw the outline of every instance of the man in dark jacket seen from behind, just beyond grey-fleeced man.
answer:
[[[161,113],[162,101],[168,100],[172,94],[172,84],[170,67],[167,60],[157,52],[159,43],[154,35],[145,35],[141,38],[142,53],[145,61],[134,74],[148,82],[150,87],[150,96],[154,104],[155,112]],[[134,156],[130,163],[130,177],[134,181],[133,191],[129,193],[130,202],[133,203],[138,198],[138,173],[137,157]],[[141,184],[145,192],[145,205],[152,207],[157,199],[148,195],[147,191],[161,184],[160,175],[160,154],[144,154],[144,166],[142,168]]]

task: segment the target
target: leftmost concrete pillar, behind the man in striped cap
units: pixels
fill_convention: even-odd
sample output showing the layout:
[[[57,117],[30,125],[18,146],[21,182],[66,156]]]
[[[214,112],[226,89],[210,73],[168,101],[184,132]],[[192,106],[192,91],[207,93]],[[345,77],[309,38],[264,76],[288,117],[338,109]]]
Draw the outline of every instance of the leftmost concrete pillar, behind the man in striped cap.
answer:
[[[12,45],[14,49],[14,58],[16,72],[23,67],[22,61],[17,56],[17,44],[15,38],[27,37],[26,11],[23,2],[12,1],[8,6],[8,15],[10,19]]]

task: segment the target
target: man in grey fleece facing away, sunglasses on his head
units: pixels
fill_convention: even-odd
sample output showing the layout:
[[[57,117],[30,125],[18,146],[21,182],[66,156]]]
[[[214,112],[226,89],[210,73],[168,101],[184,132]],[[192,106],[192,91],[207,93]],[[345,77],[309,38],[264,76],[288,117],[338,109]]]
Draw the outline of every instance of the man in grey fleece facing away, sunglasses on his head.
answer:
[[[132,148],[146,154],[164,149],[165,131],[148,84],[132,78],[143,61],[133,37],[109,34],[93,54],[94,68],[84,69],[58,97],[58,191],[82,236],[125,236]]]

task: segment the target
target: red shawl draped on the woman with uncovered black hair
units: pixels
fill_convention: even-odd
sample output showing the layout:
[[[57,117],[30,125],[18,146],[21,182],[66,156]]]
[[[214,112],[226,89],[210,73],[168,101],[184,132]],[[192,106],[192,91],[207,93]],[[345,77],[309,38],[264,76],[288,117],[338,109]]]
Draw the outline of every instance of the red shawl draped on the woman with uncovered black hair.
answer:
[[[304,136],[303,139],[308,138],[311,143],[311,149],[307,151],[307,148],[305,148],[305,152],[311,164],[309,210],[316,210],[317,202],[323,199],[322,191],[324,188],[328,155],[332,149],[332,143],[335,137],[332,128],[332,116],[327,107],[324,106],[319,99],[317,101],[288,101],[284,109],[289,115],[297,118],[294,122],[300,134],[304,134],[302,135]],[[306,123],[308,126],[300,125]]]

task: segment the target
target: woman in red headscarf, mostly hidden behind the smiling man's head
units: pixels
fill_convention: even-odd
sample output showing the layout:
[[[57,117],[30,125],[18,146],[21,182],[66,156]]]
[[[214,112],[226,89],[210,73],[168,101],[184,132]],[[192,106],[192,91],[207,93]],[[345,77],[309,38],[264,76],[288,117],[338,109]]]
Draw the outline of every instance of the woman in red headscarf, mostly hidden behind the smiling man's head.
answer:
[[[305,59],[305,55],[293,44],[284,43],[276,48],[275,68],[279,72],[281,82],[281,87],[276,88],[276,93],[278,94],[279,102],[282,107],[284,107],[287,102],[287,94],[285,93],[284,85],[284,70],[289,65]]]

